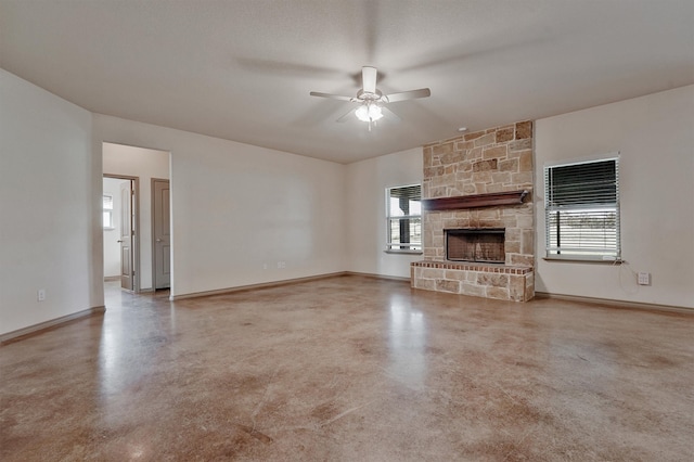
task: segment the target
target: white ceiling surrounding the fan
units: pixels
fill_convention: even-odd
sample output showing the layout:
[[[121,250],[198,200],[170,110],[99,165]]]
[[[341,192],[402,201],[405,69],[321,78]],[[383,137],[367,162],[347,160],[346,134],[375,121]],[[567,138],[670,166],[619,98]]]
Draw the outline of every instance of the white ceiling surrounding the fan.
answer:
[[[401,121],[350,104],[378,68]],[[350,163],[694,84],[693,0],[0,0],[0,67],[89,111]]]

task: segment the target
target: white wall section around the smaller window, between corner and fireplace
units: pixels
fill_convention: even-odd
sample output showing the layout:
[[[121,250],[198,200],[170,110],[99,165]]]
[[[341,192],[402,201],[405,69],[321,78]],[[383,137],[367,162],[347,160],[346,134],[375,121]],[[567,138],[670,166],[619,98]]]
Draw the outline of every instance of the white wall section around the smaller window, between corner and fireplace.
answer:
[[[410,278],[422,255],[386,254],[386,188],[421,184],[422,147],[347,165],[347,270]]]

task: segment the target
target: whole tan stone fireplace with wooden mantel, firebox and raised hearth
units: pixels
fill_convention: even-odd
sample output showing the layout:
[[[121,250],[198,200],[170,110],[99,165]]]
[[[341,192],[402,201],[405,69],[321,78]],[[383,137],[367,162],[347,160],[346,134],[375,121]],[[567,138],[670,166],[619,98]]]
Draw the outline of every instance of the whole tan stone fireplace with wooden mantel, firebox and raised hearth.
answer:
[[[464,134],[423,151],[424,260],[412,264],[412,286],[531,299],[532,123]]]

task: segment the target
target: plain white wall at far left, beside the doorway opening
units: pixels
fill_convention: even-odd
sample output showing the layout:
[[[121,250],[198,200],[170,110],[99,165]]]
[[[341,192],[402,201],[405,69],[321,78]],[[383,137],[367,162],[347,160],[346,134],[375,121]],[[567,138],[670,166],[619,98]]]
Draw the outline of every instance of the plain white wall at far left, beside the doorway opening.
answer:
[[[91,154],[88,111],[0,69],[0,334],[103,306]]]

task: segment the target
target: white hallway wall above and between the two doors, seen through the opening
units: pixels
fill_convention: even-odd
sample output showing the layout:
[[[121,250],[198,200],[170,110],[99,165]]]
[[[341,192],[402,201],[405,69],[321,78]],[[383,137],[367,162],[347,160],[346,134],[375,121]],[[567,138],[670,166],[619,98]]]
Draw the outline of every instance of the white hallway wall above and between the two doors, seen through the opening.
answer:
[[[169,178],[169,153],[166,151],[104,143],[103,170],[104,174],[108,175],[123,175],[139,178],[139,281],[140,290],[152,290],[152,178]]]

